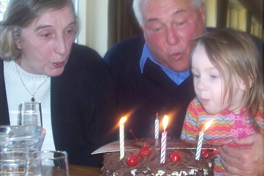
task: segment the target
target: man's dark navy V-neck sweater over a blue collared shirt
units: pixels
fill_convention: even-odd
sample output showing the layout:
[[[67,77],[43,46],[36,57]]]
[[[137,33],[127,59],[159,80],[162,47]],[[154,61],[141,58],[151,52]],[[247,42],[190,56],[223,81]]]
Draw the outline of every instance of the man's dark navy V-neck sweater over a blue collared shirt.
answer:
[[[162,118],[163,114],[169,116],[168,136],[179,138],[187,106],[195,96],[192,77],[177,85],[150,59],[142,74],[139,62],[144,43],[139,35],[115,44],[104,56],[119,88],[119,105],[124,114],[130,114],[125,123],[126,139],[133,138],[130,129],[137,138],[154,139],[157,112]]]

